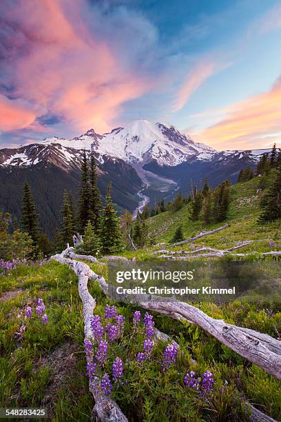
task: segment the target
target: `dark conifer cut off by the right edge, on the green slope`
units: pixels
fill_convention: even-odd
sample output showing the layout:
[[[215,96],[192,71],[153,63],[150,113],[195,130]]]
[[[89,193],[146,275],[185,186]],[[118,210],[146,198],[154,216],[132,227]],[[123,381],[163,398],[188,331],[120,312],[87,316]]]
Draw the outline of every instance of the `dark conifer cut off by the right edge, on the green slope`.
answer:
[[[277,168],[268,194],[262,203],[264,208],[259,221],[274,221],[281,219],[281,166]]]

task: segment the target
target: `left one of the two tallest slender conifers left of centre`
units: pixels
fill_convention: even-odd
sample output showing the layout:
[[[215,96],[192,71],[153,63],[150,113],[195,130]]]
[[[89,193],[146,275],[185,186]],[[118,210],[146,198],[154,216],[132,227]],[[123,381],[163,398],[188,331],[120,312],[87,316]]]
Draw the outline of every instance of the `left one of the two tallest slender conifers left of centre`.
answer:
[[[86,151],[83,152],[83,161],[81,165],[81,182],[79,188],[79,211],[78,225],[81,233],[84,232],[87,221],[90,219],[90,183],[89,169],[87,163]]]

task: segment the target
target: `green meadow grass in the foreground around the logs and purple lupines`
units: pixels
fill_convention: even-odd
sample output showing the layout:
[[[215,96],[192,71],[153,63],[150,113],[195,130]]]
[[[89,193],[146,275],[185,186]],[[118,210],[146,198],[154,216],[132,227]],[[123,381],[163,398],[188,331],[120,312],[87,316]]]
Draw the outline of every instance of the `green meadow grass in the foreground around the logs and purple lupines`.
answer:
[[[106,265],[90,264],[107,278]],[[83,319],[77,279],[65,265],[54,261],[39,267],[19,267],[10,275],[0,277],[2,291],[23,290],[16,299],[1,303],[0,308],[0,388],[1,407],[41,406],[46,391],[52,386],[52,365],[40,367],[39,362],[66,342],[76,345],[75,368],[52,398],[52,420],[90,421],[94,405],[88,391],[83,353]],[[96,283],[90,281],[90,292],[96,299],[95,313],[103,315],[107,299]],[[34,305],[41,297],[50,322],[43,325],[33,317],[26,321],[21,310]],[[132,336],[134,305],[117,304],[125,318],[125,335],[110,348],[107,370],[110,372],[116,355],[126,362],[126,382],[115,388],[112,396],[130,421],[225,421],[247,420],[241,402],[244,398],[275,419],[280,419],[280,383],[251,365],[209,334],[190,323],[174,321],[154,314],[156,327],[175,339],[184,354],[167,374],[161,372],[161,355],[165,344],[160,342],[153,359],[141,368],[134,362],[143,348],[143,332]],[[238,302],[197,306],[214,318],[223,318],[273,336],[281,334],[280,303]],[[26,330],[17,335],[21,325]],[[196,360],[196,365],[190,358]],[[129,359],[129,360],[126,360]],[[193,390],[185,388],[187,370],[202,374],[211,370],[215,376],[214,393],[209,402],[202,401]],[[227,381],[227,382],[226,382]]]

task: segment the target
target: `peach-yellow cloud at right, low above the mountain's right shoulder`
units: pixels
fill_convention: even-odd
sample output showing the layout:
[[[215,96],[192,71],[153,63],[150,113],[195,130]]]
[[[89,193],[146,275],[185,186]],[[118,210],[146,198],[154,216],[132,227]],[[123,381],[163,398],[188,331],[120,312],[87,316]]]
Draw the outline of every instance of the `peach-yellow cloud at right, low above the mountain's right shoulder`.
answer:
[[[225,150],[259,148],[281,129],[281,79],[268,92],[236,103],[225,110],[226,117],[197,134],[196,138]]]

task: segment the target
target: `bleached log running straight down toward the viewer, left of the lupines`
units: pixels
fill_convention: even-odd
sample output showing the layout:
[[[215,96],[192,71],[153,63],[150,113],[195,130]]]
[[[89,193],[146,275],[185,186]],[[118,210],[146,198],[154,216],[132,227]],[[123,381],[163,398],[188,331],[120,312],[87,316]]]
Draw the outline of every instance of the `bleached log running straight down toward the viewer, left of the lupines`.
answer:
[[[69,251],[67,250],[63,251],[62,254],[54,255],[52,259],[60,263],[66,263],[74,270],[78,277],[79,296],[81,297],[83,303],[84,335],[85,339],[90,339],[92,337],[90,322],[94,308],[96,307],[96,301],[87,289],[88,279],[93,276],[92,270],[90,270],[90,267],[83,262],[67,259],[68,253]],[[90,357],[88,356],[87,363],[90,363]],[[89,381],[89,390],[94,396],[95,405],[92,410],[92,416],[96,421],[127,422],[127,418],[119,408],[118,404],[110,399],[110,397],[102,394],[98,379]]]

